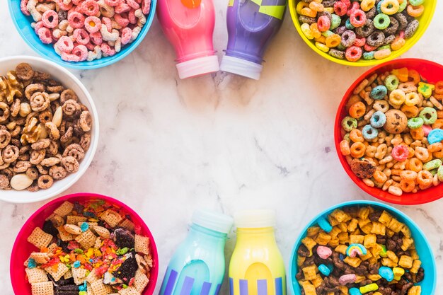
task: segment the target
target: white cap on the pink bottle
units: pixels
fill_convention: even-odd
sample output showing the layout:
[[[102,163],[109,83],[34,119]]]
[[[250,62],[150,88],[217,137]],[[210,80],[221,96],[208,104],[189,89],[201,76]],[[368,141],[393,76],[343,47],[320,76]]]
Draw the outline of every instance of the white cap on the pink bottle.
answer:
[[[220,69],[217,55],[190,59],[186,62],[180,62],[176,66],[180,79],[210,74]]]

